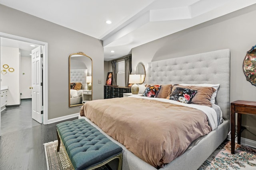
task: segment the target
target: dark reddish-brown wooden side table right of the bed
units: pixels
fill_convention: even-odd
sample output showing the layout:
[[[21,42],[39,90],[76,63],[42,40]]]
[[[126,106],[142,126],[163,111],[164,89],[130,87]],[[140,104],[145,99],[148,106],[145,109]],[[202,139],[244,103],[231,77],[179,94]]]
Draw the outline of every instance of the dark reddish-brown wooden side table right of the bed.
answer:
[[[237,143],[241,143],[242,114],[256,115],[256,102],[236,100],[230,104],[231,153],[235,153],[236,113],[237,113]]]

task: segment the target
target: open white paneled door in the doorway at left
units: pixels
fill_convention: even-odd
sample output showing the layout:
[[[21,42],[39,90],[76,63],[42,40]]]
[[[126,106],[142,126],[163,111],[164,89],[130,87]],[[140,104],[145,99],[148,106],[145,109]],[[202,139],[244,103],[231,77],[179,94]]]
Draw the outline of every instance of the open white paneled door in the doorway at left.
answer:
[[[32,119],[42,123],[42,47],[32,50]]]

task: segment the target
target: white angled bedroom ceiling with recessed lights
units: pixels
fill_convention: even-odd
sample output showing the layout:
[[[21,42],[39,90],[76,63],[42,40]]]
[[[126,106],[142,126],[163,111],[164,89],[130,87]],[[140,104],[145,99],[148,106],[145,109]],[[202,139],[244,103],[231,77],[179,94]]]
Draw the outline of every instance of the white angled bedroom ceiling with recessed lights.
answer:
[[[255,3],[255,0],[0,0],[5,6],[101,39],[105,61]],[[107,20],[112,23],[107,24]]]

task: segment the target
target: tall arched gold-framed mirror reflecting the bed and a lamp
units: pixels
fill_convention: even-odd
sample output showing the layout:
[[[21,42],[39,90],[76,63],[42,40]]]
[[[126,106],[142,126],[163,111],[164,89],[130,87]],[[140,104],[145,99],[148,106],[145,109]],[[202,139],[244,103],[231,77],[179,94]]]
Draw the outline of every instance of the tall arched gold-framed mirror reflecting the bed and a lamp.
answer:
[[[92,100],[92,59],[83,52],[69,56],[69,107]]]

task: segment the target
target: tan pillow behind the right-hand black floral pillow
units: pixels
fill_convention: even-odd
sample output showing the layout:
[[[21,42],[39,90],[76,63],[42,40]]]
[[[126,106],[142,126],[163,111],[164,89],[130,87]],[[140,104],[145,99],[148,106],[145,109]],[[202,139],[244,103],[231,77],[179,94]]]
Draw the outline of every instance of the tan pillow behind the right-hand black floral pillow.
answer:
[[[212,107],[212,104],[210,101],[212,98],[212,94],[215,92],[215,89],[213,87],[174,85],[172,87],[172,92],[177,87],[197,90],[196,95],[194,96],[194,98],[192,98],[191,104],[198,104],[198,105]],[[167,98],[169,99],[169,96]]]

